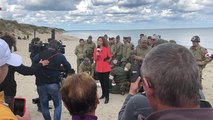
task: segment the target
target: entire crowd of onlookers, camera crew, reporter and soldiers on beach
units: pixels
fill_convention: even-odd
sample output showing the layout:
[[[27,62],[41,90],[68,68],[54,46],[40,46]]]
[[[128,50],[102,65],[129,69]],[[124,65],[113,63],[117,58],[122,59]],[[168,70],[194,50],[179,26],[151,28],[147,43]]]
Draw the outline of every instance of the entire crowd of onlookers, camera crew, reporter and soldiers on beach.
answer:
[[[200,104],[202,70],[212,58],[200,46],[199,36],[192,37],[190,49],[156,34],[148,37],[141,34],[136,47],[131,37],[123,37],[123,43],[120,39],[119,35],[115,38],[100,36],[97,43],[92,41],[92,36],[86,41],[80,39],[74,51],[77,56],[75,74],[58,50],[59,41],[51,40],[43,49],[39,47],[40,39],[34,38],[31,43],[35,46],[30,48],[32,66],[27,67],[19,55],[12,53],[12,46],[16,44],[14,36],[2,35],[0,91],[4,91],[5,100],[0,100],[0,119],[30,119],[28,110],[23,116],[12,113],[16,95],[14,72],[35,75],[38,105],[45,120],[51,120],[49,100],[53,101],[55,120],[61,118],[61,100],[73,120],[97,120],[95,110],[99,99],[105,99],[107,104],[109,93],[124,95],[125,92],[129,94],[119,112],[119,120],[213,118],[213,109],[205,108],[211,105]],[[66,73],[64,82],[62,70]],[[101,84],[100,97],[95,79]]]

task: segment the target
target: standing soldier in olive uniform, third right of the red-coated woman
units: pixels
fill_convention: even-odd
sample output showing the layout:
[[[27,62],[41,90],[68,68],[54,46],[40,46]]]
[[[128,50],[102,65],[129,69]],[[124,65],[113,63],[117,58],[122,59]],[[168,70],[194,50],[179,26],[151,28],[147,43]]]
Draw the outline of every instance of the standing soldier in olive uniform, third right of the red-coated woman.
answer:
[[[127,62],[130,61],[130,54],[131,54],[131,45],[128,42],[128,37],[123,37],[123,51],[122,51],[122,58],[125,58]]]

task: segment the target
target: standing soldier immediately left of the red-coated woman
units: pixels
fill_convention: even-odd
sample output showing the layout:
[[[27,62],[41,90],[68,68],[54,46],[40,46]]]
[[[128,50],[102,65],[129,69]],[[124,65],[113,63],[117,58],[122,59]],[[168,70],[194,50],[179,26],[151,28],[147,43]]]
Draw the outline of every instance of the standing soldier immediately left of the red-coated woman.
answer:
[[[90,59],[90,62],[93,63],[93,52],[94,48],[96,48],[95,43],[92,41],[92,36],[90,35],[86,41],[86,57]]]

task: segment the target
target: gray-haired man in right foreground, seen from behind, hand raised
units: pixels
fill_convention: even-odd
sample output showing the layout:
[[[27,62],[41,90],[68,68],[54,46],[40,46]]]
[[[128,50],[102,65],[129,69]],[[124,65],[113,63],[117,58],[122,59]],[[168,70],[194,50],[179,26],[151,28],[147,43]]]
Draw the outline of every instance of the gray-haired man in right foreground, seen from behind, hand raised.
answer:
[[[132,111],[139,114],[138,120],[213,119],[212,108],[200,108],[199,68],[187,48],[171,43],[154,47],[143,61],[141,75],[153,113],[144,117],[146,115],[139,114],[143,111]],[[136,93],[139,83],[140,78],[132,83],[130,96]],[[141,109],[150,110],[146,98],[134,102],[140,103],[139,100],[144,102]]]

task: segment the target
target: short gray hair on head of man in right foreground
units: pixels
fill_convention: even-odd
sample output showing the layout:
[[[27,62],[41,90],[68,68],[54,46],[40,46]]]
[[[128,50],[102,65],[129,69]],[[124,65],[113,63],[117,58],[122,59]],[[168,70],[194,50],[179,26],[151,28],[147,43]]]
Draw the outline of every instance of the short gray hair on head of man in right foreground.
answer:
[[[171,43],[153,48],[143,61],[141,75],[163,104],[199,104],[199,68],[187,48]]]

